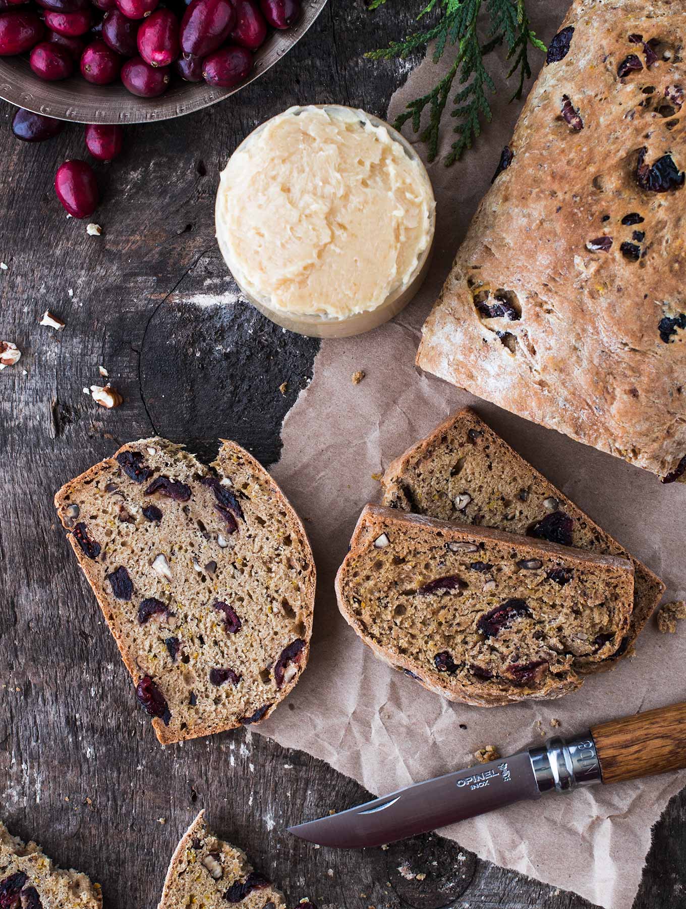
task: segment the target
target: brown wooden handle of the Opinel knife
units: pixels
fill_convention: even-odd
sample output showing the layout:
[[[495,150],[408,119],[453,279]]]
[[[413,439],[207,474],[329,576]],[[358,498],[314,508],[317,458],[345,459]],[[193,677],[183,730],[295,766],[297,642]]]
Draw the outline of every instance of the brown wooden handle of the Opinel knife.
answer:
[[[686,702],[593,726],[603,783],[686,767]]]

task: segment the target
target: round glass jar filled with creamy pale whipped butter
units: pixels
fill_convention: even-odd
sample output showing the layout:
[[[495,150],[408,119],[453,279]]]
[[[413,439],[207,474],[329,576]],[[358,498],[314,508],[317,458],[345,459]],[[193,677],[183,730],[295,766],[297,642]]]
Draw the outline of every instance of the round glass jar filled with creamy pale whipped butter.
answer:
[[[348,107],[273,117],[220,176],[217,239],[234,278],[262,312],[304,334],[356,334],[395,315],[423,276],[434,222],[414,150]]]

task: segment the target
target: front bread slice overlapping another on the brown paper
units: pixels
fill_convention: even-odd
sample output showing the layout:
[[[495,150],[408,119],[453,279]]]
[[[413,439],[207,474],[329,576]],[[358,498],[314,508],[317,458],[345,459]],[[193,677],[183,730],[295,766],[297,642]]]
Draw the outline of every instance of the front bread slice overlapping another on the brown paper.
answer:
[[[613,555],[367,505],[336,578],[372,650],[452,701],[560,697],[626,634],[633,566]]]

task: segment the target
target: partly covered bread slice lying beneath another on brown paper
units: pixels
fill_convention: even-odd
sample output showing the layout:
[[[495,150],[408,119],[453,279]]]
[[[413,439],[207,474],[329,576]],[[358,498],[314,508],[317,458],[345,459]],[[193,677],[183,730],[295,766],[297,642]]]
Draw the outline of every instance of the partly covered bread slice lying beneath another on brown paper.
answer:
[[[631,559],[634,586],[628,633],[614,654],[587,668],[610,669],[619,657],[633,653],[633,642],[660,602],[664,584],[470,407],[448,417],[389,464],[381,482],[383,504],[390,508]],[[578,660],[575,669],[583,671]]]

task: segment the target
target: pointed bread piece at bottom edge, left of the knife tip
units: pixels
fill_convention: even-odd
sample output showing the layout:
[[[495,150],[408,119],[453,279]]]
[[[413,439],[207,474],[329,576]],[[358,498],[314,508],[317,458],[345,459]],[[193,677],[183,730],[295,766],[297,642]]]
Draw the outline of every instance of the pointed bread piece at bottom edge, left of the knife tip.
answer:
[[[285,909],[283,894],[255,871],[246,854],[218,839],[201,811],[171,856],[158,909]]]

